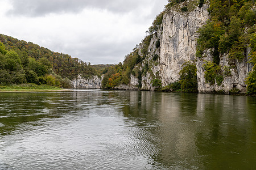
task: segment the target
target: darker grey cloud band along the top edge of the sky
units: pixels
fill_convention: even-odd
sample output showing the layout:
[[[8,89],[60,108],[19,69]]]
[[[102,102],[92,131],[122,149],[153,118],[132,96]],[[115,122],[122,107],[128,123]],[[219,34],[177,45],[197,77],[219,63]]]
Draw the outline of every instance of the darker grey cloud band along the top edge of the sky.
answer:
[[[11,15],[44,16],[49,13],[78,13],[84,8],[107,9],[112,12],[129,12],[150,3],[146,0],[11,0]]]

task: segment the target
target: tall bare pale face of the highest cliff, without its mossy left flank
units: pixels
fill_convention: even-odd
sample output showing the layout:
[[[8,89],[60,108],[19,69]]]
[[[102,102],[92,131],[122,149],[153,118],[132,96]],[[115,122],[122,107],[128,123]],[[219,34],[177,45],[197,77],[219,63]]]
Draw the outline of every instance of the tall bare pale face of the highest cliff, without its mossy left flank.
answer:
[[[164,14],[160,45],[160,70],[163,86],[176,82],[186,61],[195,61],[196,31],[209,19],[208,5],[188,14],[170,11]]]

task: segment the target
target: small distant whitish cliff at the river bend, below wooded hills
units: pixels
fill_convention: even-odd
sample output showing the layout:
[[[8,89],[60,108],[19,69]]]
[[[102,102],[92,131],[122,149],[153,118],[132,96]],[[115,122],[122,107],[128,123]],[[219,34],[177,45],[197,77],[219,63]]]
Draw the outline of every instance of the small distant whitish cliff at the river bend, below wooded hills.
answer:
[[[101,76],[101,78],[98,78],[98,76],[95,75],[91,79],[84,79],[81,75],[78,75],[77,79],[72,81],[73,88],[100,89],[102,78],[103,76]]]

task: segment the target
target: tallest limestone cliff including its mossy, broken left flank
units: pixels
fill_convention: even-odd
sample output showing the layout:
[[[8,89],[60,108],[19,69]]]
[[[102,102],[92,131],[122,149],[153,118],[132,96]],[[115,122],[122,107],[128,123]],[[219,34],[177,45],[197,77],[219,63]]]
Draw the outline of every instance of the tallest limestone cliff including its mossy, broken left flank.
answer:
[[[183,64],[196,60],[196,31],[209,19],[208,7],[203,5],[199,8],[195,5],[192,11],[188,12],[174,8],[164,12],[162,25],[151,38],[146,59],[138,66],[140,70],[146,65],[149,67],[147,73],[142,75],[142,90],[155,90],[152,86],[152,80],[155,78],[162,80],[162,86],[176,82],[179,80],[179,71]],[[160,42],[158,48],[157,41]],[[143,49],[143,43],[139,48]],[[155,61],[154,56],[158,56]]]

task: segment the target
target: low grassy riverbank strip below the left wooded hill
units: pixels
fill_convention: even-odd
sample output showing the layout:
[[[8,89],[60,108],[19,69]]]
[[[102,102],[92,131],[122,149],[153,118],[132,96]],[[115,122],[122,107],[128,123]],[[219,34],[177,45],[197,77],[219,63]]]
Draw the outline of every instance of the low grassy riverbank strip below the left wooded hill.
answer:
[[[36,84],[12,84],[9,86],[0,86],[0,92],[26,92],[26,91],[67,91],[55,86],[36,85]]]

